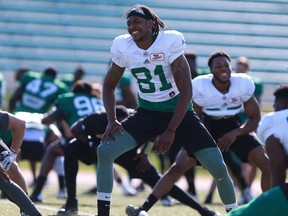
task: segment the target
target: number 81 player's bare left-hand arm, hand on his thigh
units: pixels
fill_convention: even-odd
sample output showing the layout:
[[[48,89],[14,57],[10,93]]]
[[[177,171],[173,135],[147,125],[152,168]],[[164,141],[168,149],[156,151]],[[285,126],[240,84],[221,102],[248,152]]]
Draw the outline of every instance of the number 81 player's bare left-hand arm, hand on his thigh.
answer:
[[[116,119],[115,88],[124,71],[125,68],[121,68],[112,62],[104,79],[103,102],[107,112],[108,125],[104,133],[103,140],[106,140],[107,143],[109,143],[110,137],[112,137],[114,141],[117,141],[115,136],[115,132],[117,130],[119,130],[121,133],[123,132],[121,124]]]

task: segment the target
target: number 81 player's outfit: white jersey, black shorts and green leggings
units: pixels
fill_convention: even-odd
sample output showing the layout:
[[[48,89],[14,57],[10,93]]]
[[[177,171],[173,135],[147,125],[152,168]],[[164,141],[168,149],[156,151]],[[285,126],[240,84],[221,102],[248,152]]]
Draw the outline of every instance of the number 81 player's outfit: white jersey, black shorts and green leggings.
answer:
[[[102,142],[98,146],[98,200],[110,200],[115,158],[167,129],[179,96],[171,64],[183,55],[185,47],[185,39],[177,31],[159,32],[147,50],[140,49],[129,34],[118,36],[113,41],[112,61],[119,67],[127,68],[136,78],[139,107],[135,113],[122,121],[125,131],[124,135],[116,133],[117,143],[110,140],[109,144]],[[222,187],[219,188],[223,202],[235,205],[234,188],[221,153],[192,111],[192,103],[176,130],[173,145],[182,145],[188,154],[195,156],[216,179],[221,179]],[[221,177],[220,173],[223,174]]]

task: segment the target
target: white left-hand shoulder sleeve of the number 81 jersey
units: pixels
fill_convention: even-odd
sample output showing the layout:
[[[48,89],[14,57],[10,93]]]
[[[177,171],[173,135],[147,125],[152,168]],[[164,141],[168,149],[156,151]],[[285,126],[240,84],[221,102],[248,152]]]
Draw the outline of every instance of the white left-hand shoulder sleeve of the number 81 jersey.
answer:
[[[120,35],[113,40],[110,52],[112,55],[112,61],[119,67],[125,68],[125,55],[124,52],[127,48],[127,35]]]

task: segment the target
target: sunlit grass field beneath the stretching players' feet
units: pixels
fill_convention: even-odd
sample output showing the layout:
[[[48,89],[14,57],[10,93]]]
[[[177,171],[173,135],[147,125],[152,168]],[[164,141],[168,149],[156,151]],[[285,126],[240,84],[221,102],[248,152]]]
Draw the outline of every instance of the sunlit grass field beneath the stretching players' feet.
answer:
[[[78,185],[78,205],[79,205],[79,214],[78,215],[96,215],[97,207],[96,207],[96,195],[86,195],[85,191],[90,189],[93,185]],[[111,208],[111,216],[124,216],[125,207],[128,204],[140,205],[146,198],[149,193],[149,189],[147,188],[144,192],[138,193],[136,196],[127,197],[122,194],[120,188],[116,185],[113,192],[113,200],[112,200],[112,208]],[[43,198],[44,202],[41,204],[36,204],[41,213],[45,216],[48,215],[56,215],[56,212],[59,207],[61,207],[65,200],[60,200],[56,198],[57,194],[57,184],[48,184],[43,190]],[[204,192],[198,192],[200,200],[204,199]],[[1,216],[16,216],[19,215],[19,209],[16,205],[8,201],[7,199],[0,199],[0,205],[2,208],[0,209]],[[5,207],[4,207],[5,206]],[[216,210],[220,213],[224,214],[224,209],[218,195],[215,194],[214,204],[208,205],[213,210]],[[150,211],[149,215],[151,216],[196,216],[199,215],[195,210],[180,204],[176,204],[172,207],[163,207],[161,202],[158,202],[156,206],[154,206]]]

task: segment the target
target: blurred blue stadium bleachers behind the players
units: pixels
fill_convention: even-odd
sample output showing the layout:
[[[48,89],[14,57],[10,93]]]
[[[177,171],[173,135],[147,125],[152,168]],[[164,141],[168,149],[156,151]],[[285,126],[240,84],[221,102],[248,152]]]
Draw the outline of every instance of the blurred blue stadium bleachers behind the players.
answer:
[[[200,69],[215,50],[227,51],[233,61],[247,56],[251,74],[267,86],[264,103],[271,103],[275,85],[287,83],[286,0],[1,0],[0,71],[54,65],[67,73],[81,64],[89,76],[102,80],[112,39],[126,33],[121,16],[136,3],[152,7],[169,29],[184,34]]]

